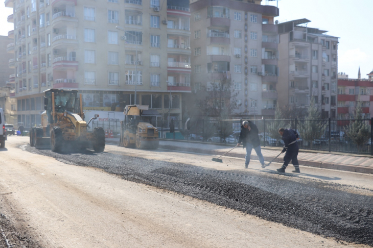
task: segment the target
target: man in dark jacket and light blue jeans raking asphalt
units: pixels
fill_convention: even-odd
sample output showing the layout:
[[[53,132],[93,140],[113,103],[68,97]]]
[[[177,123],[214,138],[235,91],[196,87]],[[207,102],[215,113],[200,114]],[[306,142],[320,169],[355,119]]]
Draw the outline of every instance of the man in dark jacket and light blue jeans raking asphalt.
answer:
[[[259,162],[262,164],[262,166],[264,166],[264,158],[260,148],[260,139],[258,133],[258,128],[254,123],[247,120],[242,122],[241,133],[240,137],[238,138],[237,146],[243,142],[243,147],[246,148],[245,168],[247,168],[250,163],[252,148],[254,148],[255,152],[257,153]]]

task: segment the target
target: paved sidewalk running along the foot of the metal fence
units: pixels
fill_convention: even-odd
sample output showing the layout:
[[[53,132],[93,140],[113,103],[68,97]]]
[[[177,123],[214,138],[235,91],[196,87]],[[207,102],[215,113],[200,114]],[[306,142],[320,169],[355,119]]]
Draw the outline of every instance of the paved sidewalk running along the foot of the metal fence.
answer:
[[[107,143],[119,144],[119,138],[106,139]],[[187,153],[199,153],[199,154],[210,154],[210,155],[223,155],[234,146],[232,145],[220,145],[202,142],[191,142],[191,141],[180,141],[180,140],[160,140],[159,148],[187,152]],[[262,147],[262,154],[266,162],[274,159],[282,148],[279,147]],[[227,153],[227,157],[245,158],[246,150],[239,146]],[[284,155],[278,156],[273,162],[283,162]],[[258,160],[255,151],[251,153],[251,159]],[[343,153],[325,153],[319,151],[305,151],[300,150],[298,155],[299,165],[327,168],[327,169],[338,169],[347,170],[353,172],[370,173],[373,174],[373,157],[367,155],[354,155],[354,154],[343,154]]]

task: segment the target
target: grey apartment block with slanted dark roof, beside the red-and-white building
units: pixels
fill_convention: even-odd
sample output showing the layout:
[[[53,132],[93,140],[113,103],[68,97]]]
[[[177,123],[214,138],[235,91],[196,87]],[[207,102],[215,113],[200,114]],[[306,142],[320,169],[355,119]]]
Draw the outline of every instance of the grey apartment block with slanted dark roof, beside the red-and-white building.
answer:
[[[278,24],[278,103],[307,108],[315,101],[324,118],[337,116],[338,37],[309,28],[310,20]]]

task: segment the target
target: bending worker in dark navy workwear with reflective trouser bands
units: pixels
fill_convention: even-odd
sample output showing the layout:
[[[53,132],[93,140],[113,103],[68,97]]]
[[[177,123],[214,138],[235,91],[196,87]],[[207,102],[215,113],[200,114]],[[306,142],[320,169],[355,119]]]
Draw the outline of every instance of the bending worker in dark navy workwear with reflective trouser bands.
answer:
[[[283,137],[284,141],[284,148],[281,153],[285,153],[284,156],[284,164],[281,168],[277,169],[278,172],[285,172],[286,167],[288,167],[288,164],[291,163],[294,165],[295,170],[292,172],[300,173],[299,170],[299,162],[298,162],[298,152],[299,152],[299,146],[297,140],[299,139],[299,135],[295,130],[292,129],[284,129],[281,128],[278,130],[278,133]]]

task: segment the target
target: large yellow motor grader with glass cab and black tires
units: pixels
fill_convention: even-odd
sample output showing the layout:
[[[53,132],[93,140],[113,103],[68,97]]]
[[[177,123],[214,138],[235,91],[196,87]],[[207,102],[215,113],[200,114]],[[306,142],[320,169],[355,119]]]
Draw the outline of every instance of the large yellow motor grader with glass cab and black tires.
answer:
[[[44,91],[44,109],[41,125],[30,129],[30,145],[38,149],[60,152],[64,148],[93,148],[103,152],[105,132],[95,128],[88,132],[84,120],[82,95],[77,90],[48,89]]]

